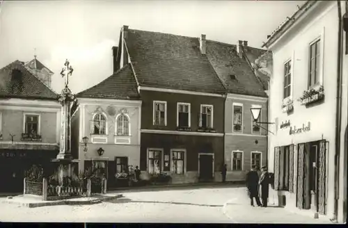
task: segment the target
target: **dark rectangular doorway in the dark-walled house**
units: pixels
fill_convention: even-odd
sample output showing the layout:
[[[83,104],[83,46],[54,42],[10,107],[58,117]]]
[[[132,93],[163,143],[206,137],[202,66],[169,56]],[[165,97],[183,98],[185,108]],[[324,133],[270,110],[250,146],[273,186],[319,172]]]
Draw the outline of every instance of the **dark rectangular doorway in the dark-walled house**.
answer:
[[[214,178],[214,154],[198,154],[198,172],[200,181],[212,181]]]

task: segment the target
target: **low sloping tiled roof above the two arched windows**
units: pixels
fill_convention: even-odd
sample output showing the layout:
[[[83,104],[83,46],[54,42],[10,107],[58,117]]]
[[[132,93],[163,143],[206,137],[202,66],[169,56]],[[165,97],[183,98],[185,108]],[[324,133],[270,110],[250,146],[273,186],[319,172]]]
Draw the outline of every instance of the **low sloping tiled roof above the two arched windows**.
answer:
[[[137,87],[132,68],[126,65],[101,83],[79,92],[77,97],[139,99]]]

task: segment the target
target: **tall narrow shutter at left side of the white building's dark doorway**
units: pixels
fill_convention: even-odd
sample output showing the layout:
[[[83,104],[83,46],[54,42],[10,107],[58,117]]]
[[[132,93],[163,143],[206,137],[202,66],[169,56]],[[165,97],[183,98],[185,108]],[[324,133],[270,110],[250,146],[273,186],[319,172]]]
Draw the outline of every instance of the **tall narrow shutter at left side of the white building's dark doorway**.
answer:
[[[303,161],[304,143],[299,144],[299,155],[297,161],[297,199],[296,206],[303,209]]]

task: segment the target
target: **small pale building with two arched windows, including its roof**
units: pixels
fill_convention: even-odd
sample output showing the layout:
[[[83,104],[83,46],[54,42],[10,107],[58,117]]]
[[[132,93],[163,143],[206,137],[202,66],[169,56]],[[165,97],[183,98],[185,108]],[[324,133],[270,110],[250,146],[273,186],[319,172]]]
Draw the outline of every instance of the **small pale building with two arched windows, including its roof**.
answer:
[[[116,174],[128,172],[129,165],[140,165],[141,101],[130,66],[79,92],[77,102],[72,152],[79,159],[79,170],[100,165],[113,187]]]

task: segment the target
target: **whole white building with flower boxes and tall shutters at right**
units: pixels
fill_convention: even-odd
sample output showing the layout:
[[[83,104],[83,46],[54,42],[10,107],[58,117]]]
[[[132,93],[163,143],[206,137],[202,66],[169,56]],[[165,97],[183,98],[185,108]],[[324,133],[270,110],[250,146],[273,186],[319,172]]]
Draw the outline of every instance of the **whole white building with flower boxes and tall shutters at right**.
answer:
[[[345,13],[344,1],[339,3]],[[336,147],[335,126],[336,113],[341,112],[336,108],[338,88],[347,91],[347,83],[338,86],[336,80],[338,18],[337,1],[307,1],[264,46],[273,53],[269,120],[276,124],[270,126],[274,135],[269,135],[269,172],[274,172],[278,202],[303,213],[337,216],[342,222],[347,162],[340,161],[342,168],[336,172],[335,159],[342,154],[347,161],[347,150]],[[341,110],[347,109],[347,92],[340,99]],[[346,128],[344,111],[341,141]]]

